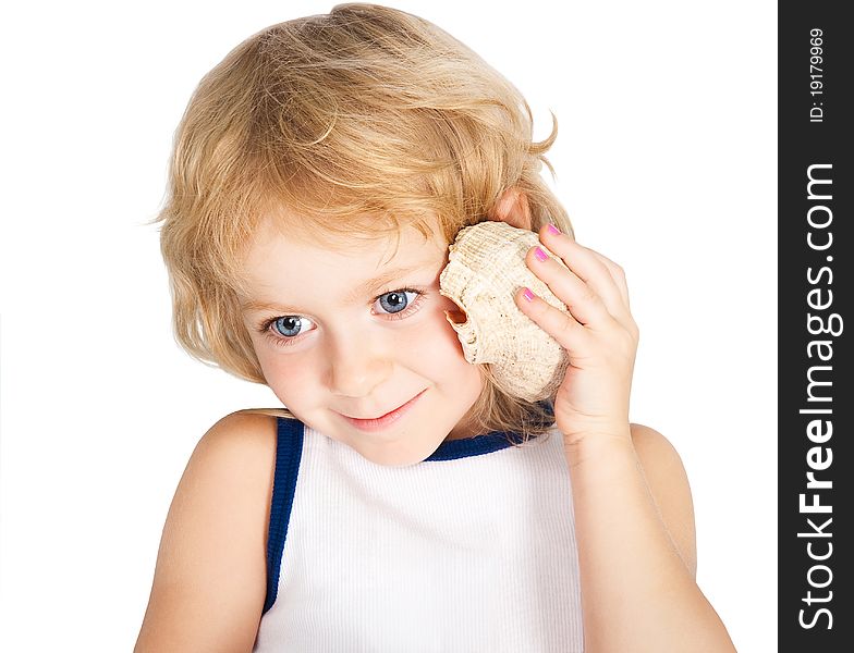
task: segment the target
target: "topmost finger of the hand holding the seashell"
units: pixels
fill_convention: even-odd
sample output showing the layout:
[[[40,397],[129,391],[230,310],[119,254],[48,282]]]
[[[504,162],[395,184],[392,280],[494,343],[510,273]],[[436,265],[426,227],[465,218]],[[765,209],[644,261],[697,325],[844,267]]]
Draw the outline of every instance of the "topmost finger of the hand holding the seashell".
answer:
[[[556,256],[559,256],[575,275],[584,281],[593,292],[601,297],[608,311],[618,318],[625,318],[629,307],[625,295],[621,292],[618,281],[613,278],[609,267],[588,249],[575,242],[574,238],[560,232],[557,227],[544,225],[539,230],[540,242]]]

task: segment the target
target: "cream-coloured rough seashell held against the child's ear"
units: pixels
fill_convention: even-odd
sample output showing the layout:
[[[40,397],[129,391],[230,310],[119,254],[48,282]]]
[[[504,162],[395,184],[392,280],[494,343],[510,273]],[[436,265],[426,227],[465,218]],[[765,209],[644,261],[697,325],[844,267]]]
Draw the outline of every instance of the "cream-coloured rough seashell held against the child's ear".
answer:
[[[466,315],[466,321],[457,323],[446,311],[465,359],[490,364],[505,392],[529,402],[551,396],[569,365],[566,350],[513,300],[515,292],[527,286],[556,308],[568,310],[525,263],[535,245],[564,264],[532,231],[495,221],[466,226],[450,245],[448,266],[439,275],[439,293]]]

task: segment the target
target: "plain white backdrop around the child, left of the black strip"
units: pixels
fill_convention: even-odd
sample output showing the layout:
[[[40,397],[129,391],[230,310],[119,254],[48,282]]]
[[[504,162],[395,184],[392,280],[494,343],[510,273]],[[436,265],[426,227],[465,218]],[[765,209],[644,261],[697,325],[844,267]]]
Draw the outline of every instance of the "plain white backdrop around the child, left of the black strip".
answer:
[[[640,325],[632,420],[682,455],[736,646],[774,651],[776,4],[388,2],[504,73],[538,137],[557,114],[556,188]],[[276,405],[172,340],[145,224],[172,134],[232,47],[332,4],[22,7],[0,20],[0,649],[130,651],[196,441]]]

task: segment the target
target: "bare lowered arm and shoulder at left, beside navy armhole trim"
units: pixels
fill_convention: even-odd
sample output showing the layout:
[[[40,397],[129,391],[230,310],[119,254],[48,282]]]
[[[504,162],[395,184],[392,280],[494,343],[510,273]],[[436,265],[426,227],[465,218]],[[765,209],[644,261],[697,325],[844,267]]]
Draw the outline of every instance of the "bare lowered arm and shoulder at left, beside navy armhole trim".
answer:
[[[135,653],[251,651],[266,594],[276,420],[235,412],[199,441],[169,509]]]

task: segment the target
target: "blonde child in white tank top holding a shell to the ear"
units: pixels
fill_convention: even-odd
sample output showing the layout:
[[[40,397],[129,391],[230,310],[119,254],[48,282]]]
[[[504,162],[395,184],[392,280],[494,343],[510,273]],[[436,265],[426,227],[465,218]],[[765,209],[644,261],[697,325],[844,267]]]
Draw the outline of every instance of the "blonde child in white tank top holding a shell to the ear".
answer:
[[[285,409],[199,442],[136,651],[731,651],[678,454],[629,422],[622,270],[578,245],[513,86],[415,16],[341,5],[240,45],[180,126],[176,335]],[[463,357],[439,294],[485,220],[536,231],[515,303],[569,353],[548,402]],[[545,258],[545,260],[542,260]]]

